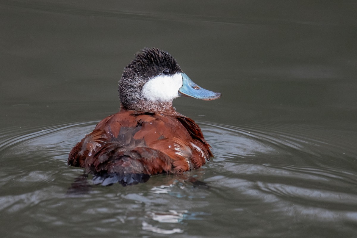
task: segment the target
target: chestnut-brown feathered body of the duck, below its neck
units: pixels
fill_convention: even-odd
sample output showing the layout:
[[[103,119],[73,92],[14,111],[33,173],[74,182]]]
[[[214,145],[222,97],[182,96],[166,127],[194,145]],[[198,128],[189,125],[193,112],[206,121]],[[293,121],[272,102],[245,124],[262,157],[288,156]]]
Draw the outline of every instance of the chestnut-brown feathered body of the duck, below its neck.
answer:
[[[77,143],[68,164],[121,176],[176,173],[201,167],[212,156],[210,148],[190,118],[121,111]]]

